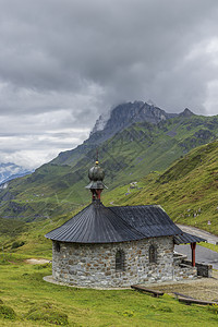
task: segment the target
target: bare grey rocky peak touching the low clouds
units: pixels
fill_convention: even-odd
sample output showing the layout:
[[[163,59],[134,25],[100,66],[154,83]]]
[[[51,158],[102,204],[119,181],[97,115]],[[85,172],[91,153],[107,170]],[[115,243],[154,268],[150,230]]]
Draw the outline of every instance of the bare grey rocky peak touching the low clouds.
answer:
[[[96,146],[102,144],[133,123],[148,122],[158,124],[177,116],[177,113],[167,113],[165,110],[143,101],[121,104],[98,118],[88,140],[82,145],[78,145],[75,149],[60,153],[51,162],[74,166],[82,154],[84,155],[90,149],[96,148]]]

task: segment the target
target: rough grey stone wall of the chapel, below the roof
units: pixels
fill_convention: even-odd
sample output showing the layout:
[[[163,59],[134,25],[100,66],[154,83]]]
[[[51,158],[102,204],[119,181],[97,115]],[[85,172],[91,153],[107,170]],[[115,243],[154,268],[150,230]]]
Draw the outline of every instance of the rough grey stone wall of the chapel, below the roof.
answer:
[[[142,282],[172,280],[173,238],[141,241],[80,244],[53,242],[52,276],[56,280],[82,287],[129,287]],[[149,263],[149,246],[157,249],[156,263]],[[116,270],[116,253],[124,252],[124,271]]]

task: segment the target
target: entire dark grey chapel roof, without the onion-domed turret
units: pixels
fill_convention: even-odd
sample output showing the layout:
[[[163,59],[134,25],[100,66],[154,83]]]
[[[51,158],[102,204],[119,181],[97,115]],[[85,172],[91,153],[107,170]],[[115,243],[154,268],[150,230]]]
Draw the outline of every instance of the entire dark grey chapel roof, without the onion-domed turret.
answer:
[[[113,243],[182,234],[159,206],[105,207],[93,202],[46,238],[75,243]]]

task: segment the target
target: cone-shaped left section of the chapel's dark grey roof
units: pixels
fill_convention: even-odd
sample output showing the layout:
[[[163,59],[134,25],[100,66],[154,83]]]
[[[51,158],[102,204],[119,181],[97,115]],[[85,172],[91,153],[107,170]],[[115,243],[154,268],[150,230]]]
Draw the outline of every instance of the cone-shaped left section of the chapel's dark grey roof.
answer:
[[[46,238],[75,243],[112,243],[144,239],[144,234],[98,201],[93,202]]]

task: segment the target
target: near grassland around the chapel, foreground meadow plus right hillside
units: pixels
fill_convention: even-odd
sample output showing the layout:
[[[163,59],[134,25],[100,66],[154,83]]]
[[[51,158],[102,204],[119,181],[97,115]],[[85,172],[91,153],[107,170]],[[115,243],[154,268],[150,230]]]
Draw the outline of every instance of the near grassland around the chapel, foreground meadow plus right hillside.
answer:
[[[135,189],[125,184],[104,192],[102,202],[105,205],[160,204],[175,222],[218,234],[217,158],[216,141],[178,159],[165,172],[153,171],[136,180]],[[218,325],[217,306],[186,306],[167,294],[154,299],[131,289],[90,290],[44,281],[43,277],[51,275],[51,264],[31,265],[26,259],[51,259],[51,241],[44,235],[82,209],[82,205],[72,206],[70,214],[60,215],[63,203],[59,198],[53,205],[47,204],[47,208],[48,205],[56,215],[46,211],[46,217],[27,222],[0,218],[0,326]],[[211,250],[217,246],[213,245]]]

